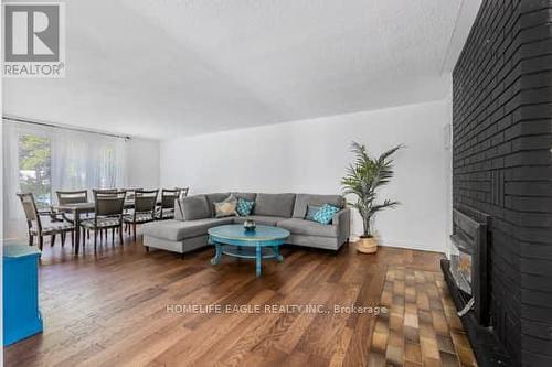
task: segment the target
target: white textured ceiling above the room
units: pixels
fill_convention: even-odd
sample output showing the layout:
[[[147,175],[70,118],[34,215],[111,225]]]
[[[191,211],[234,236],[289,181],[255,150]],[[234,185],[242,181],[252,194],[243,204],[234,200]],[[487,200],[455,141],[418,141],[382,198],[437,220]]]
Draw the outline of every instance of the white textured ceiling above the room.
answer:
[[[65,3],[66,77],[4,79],[4,115],[160,139],[444,98],[461,14],[461,0]]]

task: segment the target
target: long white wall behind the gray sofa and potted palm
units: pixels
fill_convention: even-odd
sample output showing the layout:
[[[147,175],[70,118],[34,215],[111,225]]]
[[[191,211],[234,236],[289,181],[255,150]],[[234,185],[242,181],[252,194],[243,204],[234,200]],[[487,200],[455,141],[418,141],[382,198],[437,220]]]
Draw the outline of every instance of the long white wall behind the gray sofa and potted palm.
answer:
[[[340,193],[351,141],[380,152],[399,143],[393,182],[381,198],[402,205],[376,218],[382,245],[444,251],[447,173],[443,127],[448,104],[434,101],[180,138],[161,142],[161,184],[220,191]],[[361,223],[353,219],[353,234]]]

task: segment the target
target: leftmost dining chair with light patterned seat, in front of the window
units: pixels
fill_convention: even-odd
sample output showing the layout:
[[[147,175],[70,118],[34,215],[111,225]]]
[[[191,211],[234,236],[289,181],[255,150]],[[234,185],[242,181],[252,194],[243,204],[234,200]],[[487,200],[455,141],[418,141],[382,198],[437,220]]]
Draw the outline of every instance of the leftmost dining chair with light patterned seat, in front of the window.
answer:
[[[21,201],[23,212],[25,213],[26,226],[29,229],[29,246],[33,246],[34,237],[38,237],[39,249],[42,250],[44,236],[52,236],[50,244],[51,246],[54,246],[55,236],[60,235],[63,247],[65,245],[65,237],[67,233],[71,233],[71,242],[74,244],[75,226],[72,223],[65,220],[52,220],[51,212],[39,212],[32,193],[19,193],[17,195]],[[43,222],[41,217],[45,217],[47,220]]]

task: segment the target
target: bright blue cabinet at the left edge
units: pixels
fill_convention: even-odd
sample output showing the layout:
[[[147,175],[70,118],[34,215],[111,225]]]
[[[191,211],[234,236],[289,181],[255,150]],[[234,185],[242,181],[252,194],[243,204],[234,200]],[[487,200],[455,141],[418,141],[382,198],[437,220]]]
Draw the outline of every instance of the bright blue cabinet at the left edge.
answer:
[[[3,246],[3,345],[42,332],[39,310],[40,250],[26,244]]]

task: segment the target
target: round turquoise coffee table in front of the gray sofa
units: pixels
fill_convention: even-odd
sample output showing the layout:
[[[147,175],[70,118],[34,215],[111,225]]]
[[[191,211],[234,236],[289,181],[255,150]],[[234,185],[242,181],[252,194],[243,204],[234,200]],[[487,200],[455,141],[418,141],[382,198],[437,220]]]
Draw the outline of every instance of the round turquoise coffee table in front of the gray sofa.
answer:
[[[261,277],[263,259],[282,262],[279,246],[289,237],[289,231],[278,227],[257,226],[246,231],[243,225],[225,225],[208,230],[209,244],[215,247],[212,265],[221,262],[222,255],[242,259],[255,259],[256,276]]]

